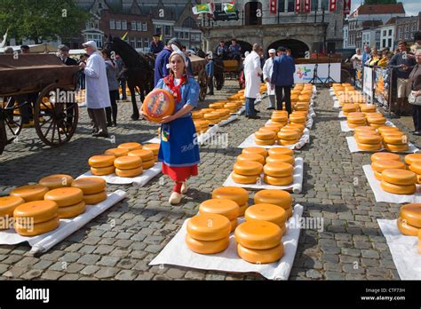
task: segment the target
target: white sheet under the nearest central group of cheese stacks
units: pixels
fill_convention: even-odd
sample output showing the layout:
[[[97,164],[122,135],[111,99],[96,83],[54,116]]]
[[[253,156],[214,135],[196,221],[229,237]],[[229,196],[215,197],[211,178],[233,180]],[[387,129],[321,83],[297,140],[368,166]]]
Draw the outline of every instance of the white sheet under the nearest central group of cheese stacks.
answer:
[[[187,220],[179,232],[171,239],[159,255],[149,265],[179,265],[197,269],[216,270],[226,273],[260,273],[271,280],[288,280],[297,252],[300,232],[300,218],[303,206],[294,207],[294,215],[287,223],[287,232],[282,237],[285,253],[281,260],[271,264],[251,264],[237,254],[237,242],[234,233],[229,239],[229,247],[217,254],[204,255],[189,250],[185,242]],[[241,220],[239,220],[241,222]],[[239,222],[239,223],[240,223]],[[295,227],[295,228],[294,228]]]

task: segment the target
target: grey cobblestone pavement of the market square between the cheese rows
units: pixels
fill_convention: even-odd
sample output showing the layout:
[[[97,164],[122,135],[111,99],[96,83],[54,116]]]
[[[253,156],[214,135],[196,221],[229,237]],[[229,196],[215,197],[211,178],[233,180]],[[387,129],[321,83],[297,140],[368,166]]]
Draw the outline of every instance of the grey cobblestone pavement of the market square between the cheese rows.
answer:
[[[224,91],[208,97],[201,107],[235,91],[234,83],[228,82]],[[328,91],[319,91],[315,101],[317,117],[311,144],[297,151],[305,159],[303,192],[293,196],[295,202],[305,206],[305,217],[323,218],[324,229],[301,231],[290,280],[397,280],[377,218],[397,218],[400,205],[375,202],[361,167],[369,162],[369,155],[350,154]],[[256,273],[219,273],[148,263],[170,242],[184,220],[195,215],[199,203],[222,185],[241,152],[236,147],[269,118],[267,106],[267,99],[257,106],[261,120],[242,117],[224,127],[228,147],[201,147],[200,175],[190,181],[180,206],[167,202],[171,194],[168,178],[163,177],[163,185],[154,178],[141,188],[108,185],[108,192],[123,189],[128,198],[47,253],[32,257],[28,244],[0,245],[0,279],[262,280]],[[157,125],[133,122],[130,115],[131,104],[119,104],[118,127],[110,129],[117,145],[156,136]],[[14,186],[36,182],[52,173],[77,177],[88,170],[91,155],[109,147],[115,145],[91,138],[84,108],[75,137],[63,147],[45,147],[34,129],[25,129],[19,142],[6,147],[0,156],[0,193],[7,194]]]

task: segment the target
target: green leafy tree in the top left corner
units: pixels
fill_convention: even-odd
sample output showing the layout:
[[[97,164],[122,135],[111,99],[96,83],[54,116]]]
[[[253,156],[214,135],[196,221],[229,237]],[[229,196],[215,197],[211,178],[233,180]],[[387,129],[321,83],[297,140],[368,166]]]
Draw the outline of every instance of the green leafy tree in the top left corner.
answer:
[[[9,37],[63,41],[80,35],[90,13],[72,0],[0,0],[0,34],[9,29]]]

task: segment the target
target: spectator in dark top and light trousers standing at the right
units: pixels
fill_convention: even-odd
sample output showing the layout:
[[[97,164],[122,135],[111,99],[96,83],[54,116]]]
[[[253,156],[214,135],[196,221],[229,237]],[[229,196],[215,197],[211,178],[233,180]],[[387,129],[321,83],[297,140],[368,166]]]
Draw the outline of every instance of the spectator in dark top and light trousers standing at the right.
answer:
[[[390,59],[389,66],[393,68],[394,75],[398,79],[397,83],[397,109],[396,116],[401,116],[401,110],[403,107],[403,102],[408,98],[410,91],[409,83],[409,73],[411,69],[415,66],[415,59],[409,59],[407,57],[407,43],[405,41],[400,41],[398,43],[399,53],[395,54],[392,59]]]

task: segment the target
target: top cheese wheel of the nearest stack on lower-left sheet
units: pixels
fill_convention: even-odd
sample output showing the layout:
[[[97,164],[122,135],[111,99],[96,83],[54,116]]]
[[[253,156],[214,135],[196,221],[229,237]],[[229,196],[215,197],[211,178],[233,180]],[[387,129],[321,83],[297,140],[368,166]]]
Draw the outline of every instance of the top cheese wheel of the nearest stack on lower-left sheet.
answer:
[[[27,224],[41,223],[56,217],[58,209],[59,206],[53,201],[26,202],[15,208],[13,217]]]

